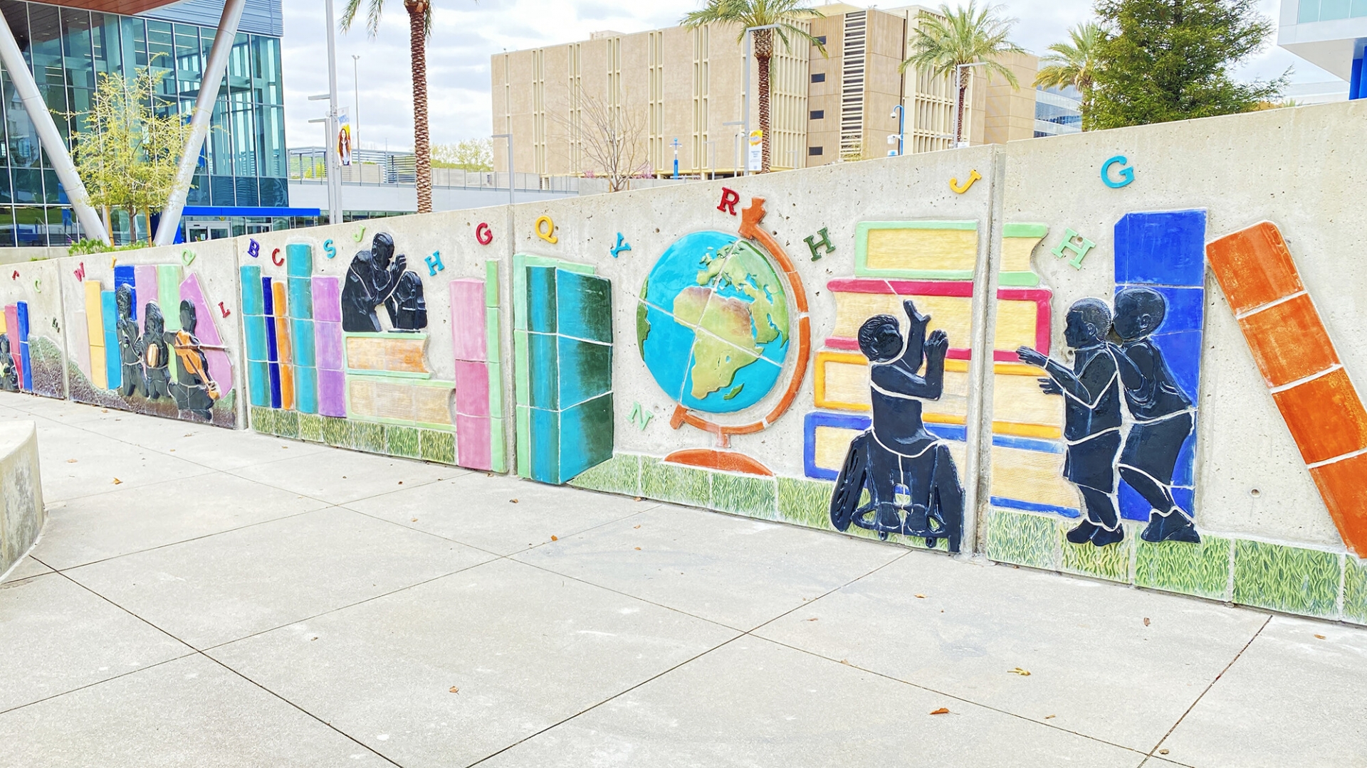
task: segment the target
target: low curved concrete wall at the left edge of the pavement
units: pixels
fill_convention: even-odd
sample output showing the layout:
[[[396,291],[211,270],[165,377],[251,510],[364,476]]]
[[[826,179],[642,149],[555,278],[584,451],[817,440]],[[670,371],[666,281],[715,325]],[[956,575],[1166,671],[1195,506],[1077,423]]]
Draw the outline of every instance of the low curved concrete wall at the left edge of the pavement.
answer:
[[[0,578],[42,532],[38,432],[31,421],[0,425]]]

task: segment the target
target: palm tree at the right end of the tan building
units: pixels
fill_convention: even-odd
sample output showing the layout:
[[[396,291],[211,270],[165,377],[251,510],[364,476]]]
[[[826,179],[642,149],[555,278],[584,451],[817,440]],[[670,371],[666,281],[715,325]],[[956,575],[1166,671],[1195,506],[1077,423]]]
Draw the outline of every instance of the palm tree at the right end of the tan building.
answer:
[[[1016,72],[998,59],[1009,53],[1025,53],[1025,49],[1006,40],[1016,19],[1001,16],[1001,5],[977,7],[969,0],[968,7],[960,5],[951,11],[940,5],[939,15],[921,16],[916,34],[912,36],[912,55],[902,61],[899,71],[908,67],[930,70],[935,77],[958,74],[958,126],[954,145],[964,139],[964,94],[968,93],[971,72],[964,64],[982,64],[988,77],[1002,75],[1012,87],[1020,87]]]

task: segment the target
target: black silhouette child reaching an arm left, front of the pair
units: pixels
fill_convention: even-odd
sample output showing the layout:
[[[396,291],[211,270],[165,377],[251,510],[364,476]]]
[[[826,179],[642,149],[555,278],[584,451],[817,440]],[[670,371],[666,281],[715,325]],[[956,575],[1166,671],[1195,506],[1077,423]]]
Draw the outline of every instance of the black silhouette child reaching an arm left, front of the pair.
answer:
[[[1114,544],[1125,537],[1115,504],[1115,456],[1121,443],[1121,394],[1117,350],[1106,342],[1110,331],[1110,307],[1100,299],[1081,299],[1068,310],[1064,340],[1073,348],[1073,369],[1040,353],[1020,347],[1021,362],[1043,368],[1040,389],[1062,395],[1064,440],[1068,455],[1064,477],[1083,495],[1085,517],[1068,540],[1091,541],[1096,547]]]

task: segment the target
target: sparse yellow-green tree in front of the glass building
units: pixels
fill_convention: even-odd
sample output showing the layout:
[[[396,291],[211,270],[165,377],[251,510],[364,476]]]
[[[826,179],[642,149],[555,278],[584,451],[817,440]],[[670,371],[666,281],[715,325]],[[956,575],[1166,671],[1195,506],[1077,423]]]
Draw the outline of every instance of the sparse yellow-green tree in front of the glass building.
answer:
[[[124,210],[134,241],[138,215],[150,223],[170,198],[190,135],[186,116],[153,108],[152,93],[167,74],[139,67],[130,82],[118,72],[100,72],[90,109],[74,115],[72,160],[90,205],[104,210],[107,228],[109,210]]]

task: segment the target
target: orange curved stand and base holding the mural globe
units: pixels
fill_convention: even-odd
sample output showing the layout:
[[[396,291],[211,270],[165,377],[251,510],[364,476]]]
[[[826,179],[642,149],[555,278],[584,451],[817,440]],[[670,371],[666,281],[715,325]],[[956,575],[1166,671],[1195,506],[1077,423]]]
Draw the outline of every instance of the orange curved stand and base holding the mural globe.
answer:
[[[812,318],[808,317],[807,290],[802,286],[802,279],[797,275],[797,268],[793,265],[793,260],[787,257],[783,246],[774,239],[774,235],[760,227],[760,221],[763,220],[764,198],[752,197],[750,206],[741,209],[740,234],[742,238],[756,241],[771,257],[774,257],[779,268],[783,271],[783,276],[787,277],[789,287],[793,288],[793,302],[797,305],[797,362],[793,368],[793,377],[789,380],[787,389],[783,391],[783,396],[779,398],[778,403],[775,403],[770,413],[764,414],[761,420],[752,424],[741,424],[735,426],[712,424],[681,404],[675,406],[674,414],[670,417],[670,426],[678,429],[688,424],[701,429],[703,432],[715,435],[718,448],[688,448],[684,451],[674,451],[673,454],[664,456],[664,461],[668,463],[735,471],[742,474],[756,474],[760,477],[774,477],[774,470],[768,469],[757,459],[752,459],[750,456],[735,451],[722,450],[730,447],[731,435],[753,435],[756,432],[761,432],[778,421],[778,417],[783,415],[783,411],[786,411],[793,404],[793,400],[797,399],[797,391],[802,387],[802,379],[807,376],[807,358],[812,351]]]

